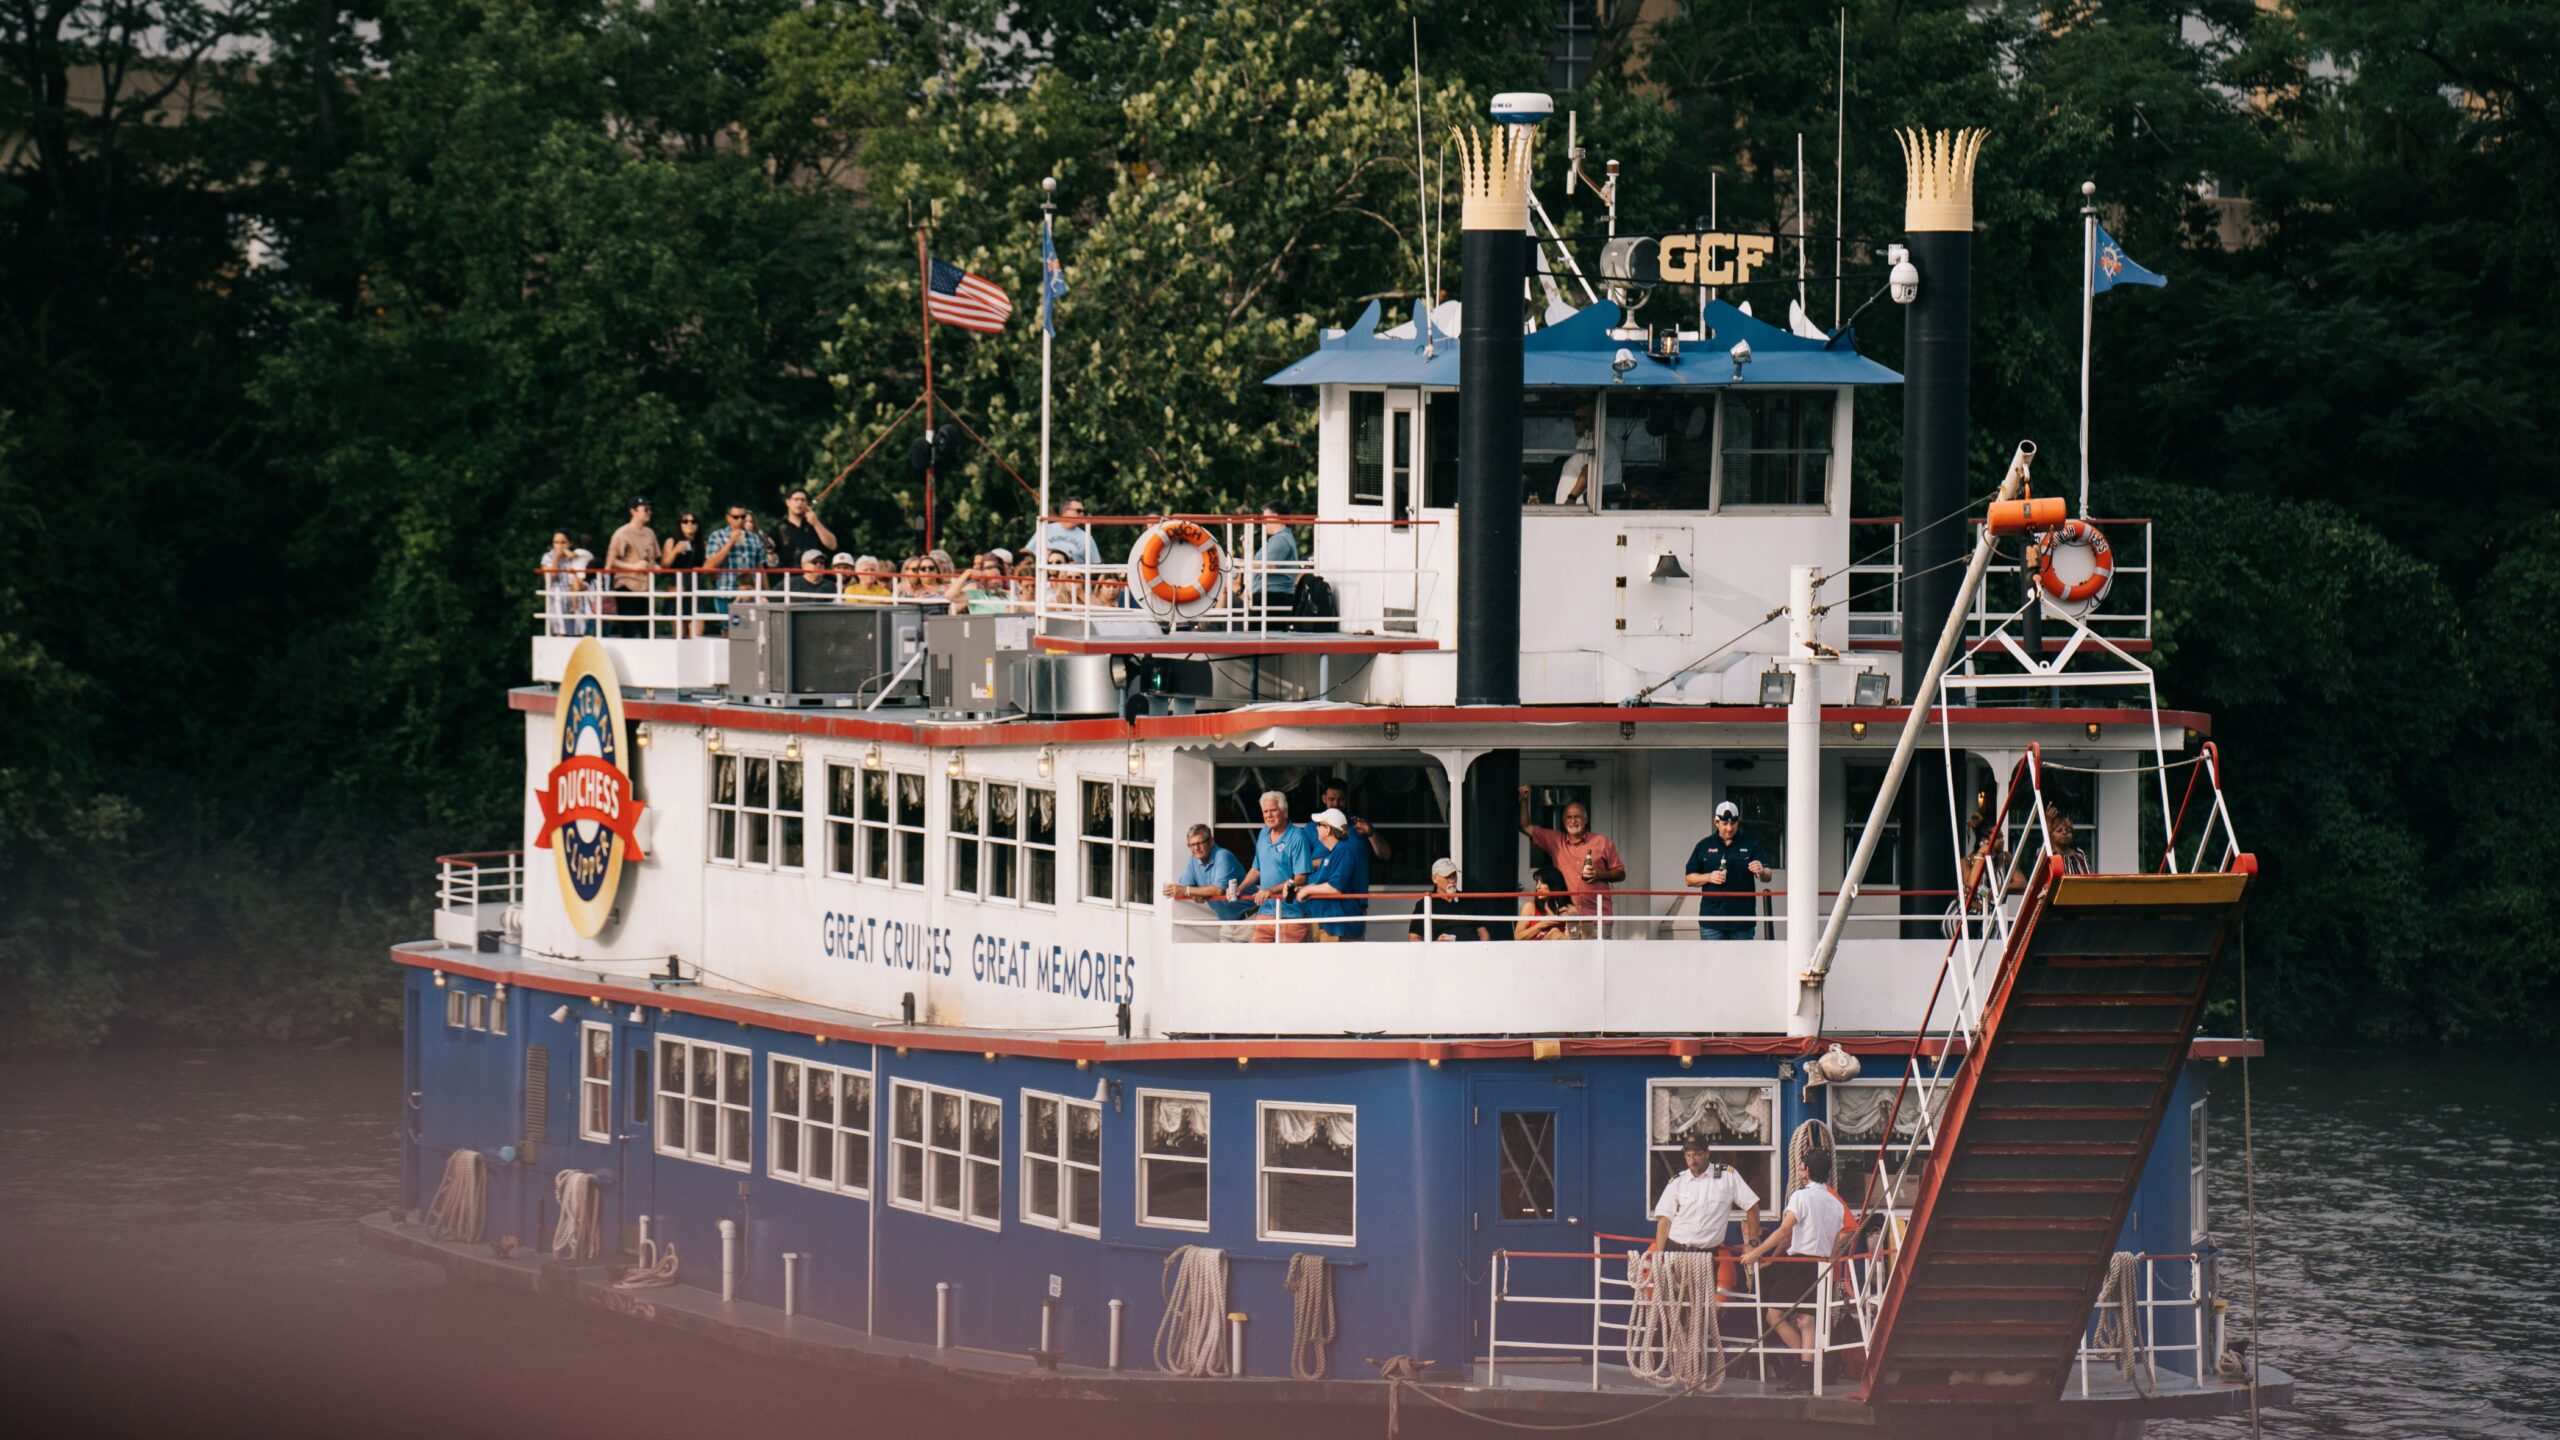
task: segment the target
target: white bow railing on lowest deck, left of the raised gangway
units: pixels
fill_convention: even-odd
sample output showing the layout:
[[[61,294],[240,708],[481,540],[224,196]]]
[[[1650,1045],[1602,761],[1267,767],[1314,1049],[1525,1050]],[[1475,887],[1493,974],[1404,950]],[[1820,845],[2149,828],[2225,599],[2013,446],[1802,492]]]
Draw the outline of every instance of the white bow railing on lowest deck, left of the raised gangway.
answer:
[[[1638,1245],[1633,1250],[1608,1250],[1605,1245]],[[1618,1368],[1628,1379],[1641,1379],[1646,1373],[1661,1376],[1672,1366],[1659,1335],[1669,1330],[1667,1325],[1649,1325],[1649,1320],[1661,1320],[1659,1312],[1649,1314],[1651,1307],[1667,1307],[1669,1302],[1656,1299],[1654,1289],[1654,1263],[1659,1256],[1649,1256],[1641,1245],[1649,1245],[1649,1235],[1608,1235],[1595,1232],[1590,1250],[1495,1250],[1490,1294],[1487,1294],[1487,1320],[1485,1320],[1485,1384],[1500,1384],[1503,1355],[1513,1361],[1531,1358],[1580,1358],[1590,1366],[1590,1389],[1600,1389],[1610,1368]],[[1536,1268],[1567,1268],[1590,1266],[1590,1294],[1539,1294],[1516,1286],[1516,1266],[1531,1263]],[[1866,1353],[1866,1335],[1874,1330],[1876,1309],[1884,1299],[1887,1266],[1876,1256],[1843,1256],[1836,1261],[1812,1258],[1772,1258],[1759,1266],[1736,1266],[1728,1250],[1713,1256],[1718,1268],[1715,1284],[1715,1353],[1720,1353],[1720,1366],[1725,1373],[1736,1363],[1748,1363],[1756,1379],[1769,1379],[1772,1358],[1807,1361],[1812,1394],[1825,1394],[1825,1386],[1838,1376],[1838,1355]],[[1784,1299],[1766,1299],[1761,1294],[1764,1276],[1772,1273],[1800,1276],[1810,1266],[1823,1268],[1820,1284],[1812,1294],[1797,1291],[1792,1284],[1782,1286]],[[1731,1271],[1731,1273],[1728,1273]],[[1787,1279],[1795,1279],[1787,1276]],[[1807,1304],[1810,1302],[1810,1304]],[[1513,1325],[1513,1338],[1503,1338],[1503,1307],[1541,1307],[1549,1312],[1587,1309],[1590,1327],[1574,1340],[1523,1340],[1518,1338],[1518,1320]],[[1777,1335],[1777,1320],[1795,1312],[1812,1312],[1812,1348],[1787,1345]],[[1725,1335],[1725,1320],[1733,1314],[1748,1314],[1746,1335]],[[1692,1330],[1697,1322],[1708,1322],[1702,1314],[1690,1314]],[[1743,1330],[1736,1325],[1736,1330]],[[1556,1330],[1544,1330],[1554,1335]],[[1705,1384],[1700,1389],[1713,1389]]]

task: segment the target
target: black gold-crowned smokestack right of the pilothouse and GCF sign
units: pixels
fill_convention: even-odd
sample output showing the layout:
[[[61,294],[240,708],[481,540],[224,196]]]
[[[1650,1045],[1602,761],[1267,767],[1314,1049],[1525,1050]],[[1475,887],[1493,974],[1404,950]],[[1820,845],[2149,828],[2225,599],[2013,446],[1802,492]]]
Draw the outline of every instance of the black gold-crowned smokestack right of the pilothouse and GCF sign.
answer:
[[[1974,402],[1974,161],[1989,131],[1897,131],[1902,143],[1902,266],[1917,269],[1902,341],[1902,694],[1920,692],[1928,638],[1946,625],[1974,538],[1964,520]],[[1920,756],[1902,792],[1907,889],[1956,887],[1946,764]],[[1928,930],[1923,925],[1923,930]]]

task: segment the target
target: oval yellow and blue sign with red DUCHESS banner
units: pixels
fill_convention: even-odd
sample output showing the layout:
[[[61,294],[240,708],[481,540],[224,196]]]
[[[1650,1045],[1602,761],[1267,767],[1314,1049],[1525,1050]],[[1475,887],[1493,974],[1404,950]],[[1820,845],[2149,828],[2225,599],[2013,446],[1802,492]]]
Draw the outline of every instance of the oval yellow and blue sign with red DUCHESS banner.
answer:
[[[589,940],[614,912],[622,861],[648,858],[632,840],[643,802],[632,797],[627,753],[614,659],[599,641],[579,641],[561,676],[556,764],[543,776],[543,789],[532,792],[543,807],[532,843],[550,851],[553,869],[561,871],[561,904]]]

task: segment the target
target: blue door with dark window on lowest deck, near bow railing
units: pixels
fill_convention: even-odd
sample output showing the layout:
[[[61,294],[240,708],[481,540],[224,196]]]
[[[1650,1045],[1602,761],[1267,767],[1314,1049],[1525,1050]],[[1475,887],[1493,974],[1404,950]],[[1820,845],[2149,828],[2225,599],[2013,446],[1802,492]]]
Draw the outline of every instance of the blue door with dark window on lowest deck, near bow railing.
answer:
[[[1580,1368],[1585,1355],[1523,1345],[1587,1345],[1587,1304],[1490,1304],[1495,1279],[1508,1297],[1590,1299],[1590,1125],[1580,1074],[1469,1084],[1467,1276],[1477,1355],[1500,1343],[1500,1363]],[[1505,1258],[1495,1261],[1503,1253]]]

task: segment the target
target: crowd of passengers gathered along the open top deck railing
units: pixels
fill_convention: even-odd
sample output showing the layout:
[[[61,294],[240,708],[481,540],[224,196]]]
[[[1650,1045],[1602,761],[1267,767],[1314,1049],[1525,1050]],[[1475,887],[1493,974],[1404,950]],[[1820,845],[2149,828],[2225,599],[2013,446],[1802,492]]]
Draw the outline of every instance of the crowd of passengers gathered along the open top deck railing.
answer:
[[[1252,566],[1231,571],[1229,600],[1285,610],[1298,584],[1298,538],[1270,505],[1262,507],[1262,543]],[[1044,564],[1042,564],[1044,561]],[[740,597],[845,605],[927,605],[952,615],[1004,615],[1032,610],[1137,607],[1129,579],[1103,569],[1085,502],[1068,497],[1021,548],[993,546],[963,556],[947,548],[904,561],[858,556],[840,548],[835,528],[819,518],[806,489],[794,489],[783,515],[760,528],[748,505],[730,505],[704,533],[686,510],[671,533],[655,530],[645,495],[627,502],[627,520],[612,533],[604,561],[594,541],[558,530],[535,566],[543,574],[545,630],[550,635],[709,635]]]

